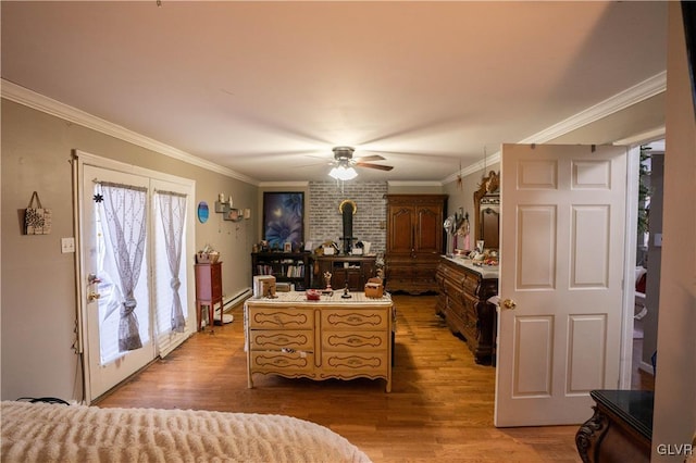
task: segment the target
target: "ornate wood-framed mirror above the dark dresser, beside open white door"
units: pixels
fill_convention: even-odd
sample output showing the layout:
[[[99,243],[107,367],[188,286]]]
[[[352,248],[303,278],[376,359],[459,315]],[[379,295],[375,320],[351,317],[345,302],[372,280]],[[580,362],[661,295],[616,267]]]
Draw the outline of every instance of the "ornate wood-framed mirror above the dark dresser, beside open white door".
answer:
[[[474,192],[475,239],[484,241],[485,249],[500,245],[500,175],[490,171]]]

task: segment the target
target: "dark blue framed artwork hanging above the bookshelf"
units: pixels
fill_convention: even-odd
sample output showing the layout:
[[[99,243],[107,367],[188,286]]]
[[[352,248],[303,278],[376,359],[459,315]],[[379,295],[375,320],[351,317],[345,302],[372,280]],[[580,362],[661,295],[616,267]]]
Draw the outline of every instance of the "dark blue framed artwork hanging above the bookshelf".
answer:
[[[303,192],[263,193],[263,239],[275,250],[285,249],[286,243],[291,249],[304,241]]]

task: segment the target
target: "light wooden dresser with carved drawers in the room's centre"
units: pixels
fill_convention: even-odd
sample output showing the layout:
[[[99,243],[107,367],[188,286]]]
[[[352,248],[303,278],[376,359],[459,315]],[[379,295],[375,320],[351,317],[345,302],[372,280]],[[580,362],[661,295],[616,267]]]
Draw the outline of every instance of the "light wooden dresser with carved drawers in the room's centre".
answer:
[[[394,305],[385,296],[343,291],[308,301],[304,292],[248,299],[244,322],[247,377],[254,373],[288,378],[386,379],[391,390]]]

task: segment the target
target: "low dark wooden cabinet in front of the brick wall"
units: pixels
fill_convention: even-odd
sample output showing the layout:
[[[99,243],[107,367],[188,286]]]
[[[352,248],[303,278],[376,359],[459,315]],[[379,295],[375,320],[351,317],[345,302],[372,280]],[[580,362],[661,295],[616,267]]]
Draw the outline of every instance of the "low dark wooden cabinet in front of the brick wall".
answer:
[[[375,276],[375,258],[360,255],[325,255],[316,258],[319,275],[314,286],[324,288],[324,273],[332,274],[331,286],[338,290],[348,285],[351,291],[364,291],[365,283]]]

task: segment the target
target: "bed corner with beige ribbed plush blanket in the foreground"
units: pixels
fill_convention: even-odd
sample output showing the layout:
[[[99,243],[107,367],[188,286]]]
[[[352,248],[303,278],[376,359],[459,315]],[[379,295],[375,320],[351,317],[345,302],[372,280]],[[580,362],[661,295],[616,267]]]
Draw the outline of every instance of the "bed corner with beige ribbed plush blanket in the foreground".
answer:
[[[331,429],[282,415],[2,401],[3,462],[369,462]]]

